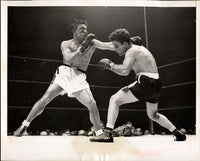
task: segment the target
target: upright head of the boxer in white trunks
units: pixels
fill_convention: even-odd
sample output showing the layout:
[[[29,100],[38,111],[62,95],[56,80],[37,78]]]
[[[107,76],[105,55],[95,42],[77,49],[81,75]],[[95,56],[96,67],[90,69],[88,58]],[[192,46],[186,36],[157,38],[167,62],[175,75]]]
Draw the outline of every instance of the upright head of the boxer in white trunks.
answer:
[[[70,27],[73,32],[73,36],[77,37],[80,40],[83,40],[88,34],[87,31],[88,24],[84,20],[81,19],[75,20]]]

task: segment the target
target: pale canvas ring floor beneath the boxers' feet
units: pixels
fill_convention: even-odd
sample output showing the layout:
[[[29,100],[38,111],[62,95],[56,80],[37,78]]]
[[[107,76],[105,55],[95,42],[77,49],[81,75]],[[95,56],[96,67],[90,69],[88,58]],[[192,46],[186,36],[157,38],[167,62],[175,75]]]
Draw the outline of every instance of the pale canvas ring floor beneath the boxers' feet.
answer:
[[[86,136],[8,136],[1,140],[5,161],[200,161],[195,135],[175,142],[172,135],[115,137],[93,143]]]

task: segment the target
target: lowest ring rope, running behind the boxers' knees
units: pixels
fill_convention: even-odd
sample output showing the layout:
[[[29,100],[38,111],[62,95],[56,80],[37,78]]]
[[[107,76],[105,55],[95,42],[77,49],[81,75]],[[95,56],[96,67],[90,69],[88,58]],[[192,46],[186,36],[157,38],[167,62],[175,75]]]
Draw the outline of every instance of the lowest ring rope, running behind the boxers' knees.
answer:
[[[30,109],[32,106],[8,106],[8,108],[17,108],[17,109]],[[184,110],[184,109],[192,109],[196,108],[195,106],[180,106],[180,107],[172,107],[172,108],[158,108],[158,111],[167,111],[167,110]],[[66,107],[46,107],[46,109],[49,110],[88,110],[87,108],[77,108],[77,107],[72,107],[72,108],[66,108]],[[101,111],[107,111],[108,109],[103,107],[99,108]],[[137,112],[142,112],[146,111],[146,109],[125,109],[125,108],[120,108],[120,111],[137,111]]]

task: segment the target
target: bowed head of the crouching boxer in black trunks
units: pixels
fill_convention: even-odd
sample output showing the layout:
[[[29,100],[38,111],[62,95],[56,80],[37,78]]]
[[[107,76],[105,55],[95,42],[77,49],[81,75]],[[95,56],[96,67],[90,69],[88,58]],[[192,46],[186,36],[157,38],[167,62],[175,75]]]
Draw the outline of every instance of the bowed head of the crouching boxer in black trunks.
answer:
[[[112,41],[116,52],[122,56],[130,47],[131,36],[126,29],[116,29],[110,34],[109,40]]]

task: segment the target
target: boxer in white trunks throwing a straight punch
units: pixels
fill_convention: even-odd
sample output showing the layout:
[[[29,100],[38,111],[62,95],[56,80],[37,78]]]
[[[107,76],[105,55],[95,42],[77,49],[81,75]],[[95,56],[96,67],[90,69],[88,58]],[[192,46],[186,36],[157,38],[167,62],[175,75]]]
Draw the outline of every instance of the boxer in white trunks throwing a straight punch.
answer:
[[[47,104],[58,95],[68,94],[75,97],[89,110],[90,121],[96,136],[103,133],[99,111],[86,81],[86,70],[96,48],[115,50],[111,42],[102,43],[94,39],[94,34],[88,34],[86,21],[77,20],[71,25],[73,38],[61,43],[63,64],[56,70],[54,79],[44,95],[34,104],[27,118],[14,131],[14,136],[22,136],[31,121],[40,115]]]

